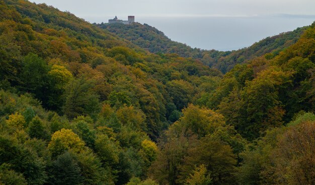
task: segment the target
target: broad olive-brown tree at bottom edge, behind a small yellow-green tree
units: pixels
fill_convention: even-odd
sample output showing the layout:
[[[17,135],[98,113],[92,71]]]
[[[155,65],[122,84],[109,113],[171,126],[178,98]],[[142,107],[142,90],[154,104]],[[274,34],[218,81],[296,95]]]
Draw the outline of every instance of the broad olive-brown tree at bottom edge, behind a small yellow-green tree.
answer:
[[[184,183],[197,165],[204,164],[211,173],[213,184],[236,184],[233,173],[237,164],[232,148],[207,135],[195,147],[188,148],[180,167],[178,183]]]

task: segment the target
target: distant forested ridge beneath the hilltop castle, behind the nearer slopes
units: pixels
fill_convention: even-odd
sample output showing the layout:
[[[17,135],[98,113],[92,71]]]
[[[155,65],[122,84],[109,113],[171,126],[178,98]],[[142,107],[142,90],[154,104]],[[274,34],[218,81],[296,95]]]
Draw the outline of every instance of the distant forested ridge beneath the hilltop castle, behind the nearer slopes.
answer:
[[[98,24],[119,37],[147,49],[150,52],[177,53],[183,57],[197,58],[203,64],[228,72],[235,64],[242,64],[257,56],[272,52],[277,55],[279,51],[295,43],[308,26],[297,28],[294,31],[267,37],[252,46],[233,51],[203,50],[192,48],[186,44],[172,41],[163,32],[147,24]]]

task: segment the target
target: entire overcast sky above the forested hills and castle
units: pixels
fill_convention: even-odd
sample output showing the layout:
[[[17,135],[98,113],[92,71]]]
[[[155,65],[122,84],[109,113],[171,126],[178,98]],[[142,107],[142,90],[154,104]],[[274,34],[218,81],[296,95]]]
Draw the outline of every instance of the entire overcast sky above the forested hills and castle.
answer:
[[[33,0],[91,23],[117,16],[146,23],[202,49],[247,47],[315,21],[314,0]],[[229,29],[229,30],[225,30]]]

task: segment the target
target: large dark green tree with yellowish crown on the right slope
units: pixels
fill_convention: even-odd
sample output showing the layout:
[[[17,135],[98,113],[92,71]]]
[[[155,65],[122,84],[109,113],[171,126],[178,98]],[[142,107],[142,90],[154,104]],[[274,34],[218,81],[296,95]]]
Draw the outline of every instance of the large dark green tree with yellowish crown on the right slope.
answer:
[[[278,68],[270,68],[246,83],[241,92],[244,101],[240,113],[243,116],[233,124],[243,136],[254,139],[268,128],[282,125],[285,111],[278,92],[290,75]]]

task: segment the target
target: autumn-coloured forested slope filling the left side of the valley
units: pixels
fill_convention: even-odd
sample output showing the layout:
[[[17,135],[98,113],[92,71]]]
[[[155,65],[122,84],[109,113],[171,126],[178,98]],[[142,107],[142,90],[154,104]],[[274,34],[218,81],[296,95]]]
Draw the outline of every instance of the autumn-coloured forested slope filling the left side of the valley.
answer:
[[[69,12],[0,1],[0,184],[155,184],[153,141],[221,78]]]

